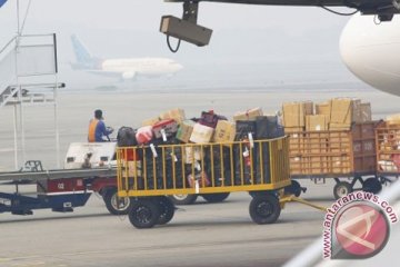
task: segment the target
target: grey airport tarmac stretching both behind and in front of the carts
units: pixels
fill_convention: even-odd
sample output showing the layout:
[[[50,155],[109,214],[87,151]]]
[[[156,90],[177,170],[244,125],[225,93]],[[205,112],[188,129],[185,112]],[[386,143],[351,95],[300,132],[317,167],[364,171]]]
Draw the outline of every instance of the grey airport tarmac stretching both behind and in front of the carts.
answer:
[[[88,121],[97,108],[103,109],[107,125],[118,129],[138,127],[143,119],[177,107],[189,118],[208,109],[231,118],[236,111],[252,107],[273,113],[283,101],[333,97],[371,101],[374,119],[398,112],[397,97],[372,90],[62,93],[60,158],[70,142],[86,141]],[[54,168],[52,108],[26,107],[24,111],[26,159],[40,159],[46,168]],[[3,108],[0,116],[3,171],[14,167],[12,107]],[[309,188],[307,199],[322,206],[333,201],[331,181],[304,185]],[[249,217],[249,201],[248,194],[233,194],[222,204],[186,206],[170,224],[147,230],[133,228],[127,217],[109,215],[96,196],[73,214],[1,214],[0,266],[280,266],[321,236],[323,214],[319,210],[289,204],[277,224],[259,226]]]

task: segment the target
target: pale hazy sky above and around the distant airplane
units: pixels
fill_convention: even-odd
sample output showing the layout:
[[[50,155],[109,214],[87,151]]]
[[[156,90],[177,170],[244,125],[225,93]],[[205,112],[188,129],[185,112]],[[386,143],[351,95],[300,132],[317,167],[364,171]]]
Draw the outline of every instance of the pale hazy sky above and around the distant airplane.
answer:
[[[28,3],[29,0],[20,0],[21,21]],[[17,0],[9,0],[0,9],[0,46],[17,31],[16,6]],[[227,70],[218,68],[219,63],[229,68],[246,63],[249,73],[258,71],[264,73],[263,79],[280,81],[290,80],[291,73],[296,79],[337,79],[332,72],[344,80],[352,79],[338,49],[348,17],[309,7],[201,2],[199,23],[213,29],[210,44],[197,48],[182,43],[173,55],[159,32],[160,18],[181,13],[181,3],[162,0],[31,0],[24,33],[57,32],[61,63],[74,60],[69,38],[77,33],[93,55],[104,58],[170,57],[186,67],[211,66],[207,70],[213,73]],[[288,65],[288,70],[273,72],[271,63],[280,63],[281,69]],[[326,72],[321,71],[321,63],[330,65]],[[256,78],[260,75],[249,79]]]

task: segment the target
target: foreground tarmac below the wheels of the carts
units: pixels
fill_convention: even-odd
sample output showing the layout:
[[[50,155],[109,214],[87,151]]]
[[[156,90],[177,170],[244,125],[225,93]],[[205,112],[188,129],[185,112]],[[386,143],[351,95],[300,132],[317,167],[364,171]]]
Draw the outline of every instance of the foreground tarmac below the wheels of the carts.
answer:
[[[308,199],[324,206],[333,201],[331,182],[304,185]],[[250,199],[246,192],[221,204],[199,198],[152,229],[136,229],[126,216],[109,215],[97,196],[72,214],[1,214],[0,266],[281,266],[321,235],[322,211],[288,204],[278,222],[256,225]]]

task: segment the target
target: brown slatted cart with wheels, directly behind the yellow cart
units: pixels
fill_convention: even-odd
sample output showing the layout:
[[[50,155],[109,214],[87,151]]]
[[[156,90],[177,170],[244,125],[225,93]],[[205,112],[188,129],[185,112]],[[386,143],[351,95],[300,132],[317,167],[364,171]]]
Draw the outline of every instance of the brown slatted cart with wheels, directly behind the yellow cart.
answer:
[[[353,190],[380,191],[386,180],[377,174],[377,121],[371,121],[354,123],[349,130],[287,132],[293,179],[287,191],[300,195],[297,179],[312,179],[314,182],[333,179],[334,198]]]

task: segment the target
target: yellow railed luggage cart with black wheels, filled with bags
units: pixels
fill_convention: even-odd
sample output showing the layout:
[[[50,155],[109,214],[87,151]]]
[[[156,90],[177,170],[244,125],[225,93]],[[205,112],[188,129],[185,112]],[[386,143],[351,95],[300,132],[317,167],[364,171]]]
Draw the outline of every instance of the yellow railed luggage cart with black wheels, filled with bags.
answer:
[[[131,199],[128,215],[137,228],[172,219],[168,195],[236,191],[252,197],[249,212],[254,222],[272,224],[283,207],[283,188],[291,184],[288,148],[288,137],[118,148],[118,195]],[[127,160],[132,154],[136,160]]]

